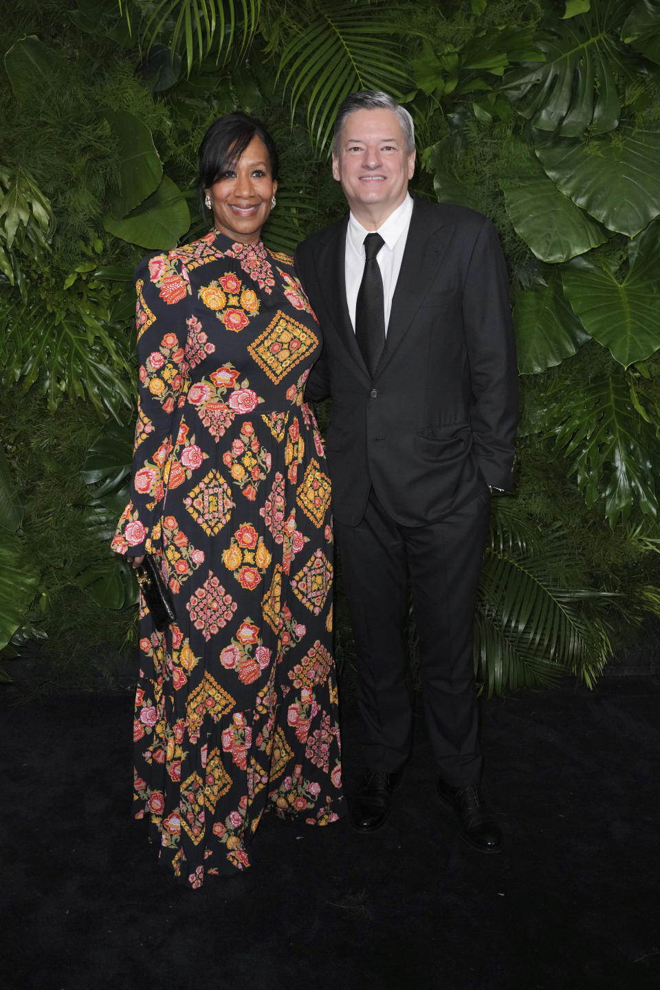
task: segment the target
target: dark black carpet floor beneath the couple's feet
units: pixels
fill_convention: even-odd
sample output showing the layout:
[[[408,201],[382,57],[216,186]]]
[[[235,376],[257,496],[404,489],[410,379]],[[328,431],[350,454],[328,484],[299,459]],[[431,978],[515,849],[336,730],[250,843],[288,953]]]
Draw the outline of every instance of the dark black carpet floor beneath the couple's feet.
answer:
[[[657,678],[482,703],[501,855],[456,837],[419,719],[379,833],[268,817],[254,866],[199,891],[131,818],[131,695],[16,700],[0,695],[3,990],[660,987]],[[350,781],[350,699],[343,718]]]

